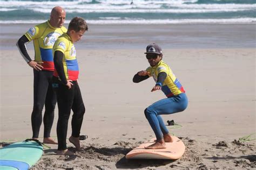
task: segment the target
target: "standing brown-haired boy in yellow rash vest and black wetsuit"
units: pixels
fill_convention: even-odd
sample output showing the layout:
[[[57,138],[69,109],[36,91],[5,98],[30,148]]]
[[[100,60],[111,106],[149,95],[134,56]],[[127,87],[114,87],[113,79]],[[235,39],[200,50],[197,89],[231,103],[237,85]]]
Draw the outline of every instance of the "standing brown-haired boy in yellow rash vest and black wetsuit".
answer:
[[[78,62],[74,42],[82,39],[88,30],[83,18],[75,17],[69,23],[68,31],[60,36],[53,46],[55,70],[52,87],[56,90],[59,118],[57,123],[58,151],[57,154],[71,155],[73,152],[66,147],[66,136],[71,109],[72,134],[69,141],[79,151],[79,134],[85,113],[82,95],[78,86]]]

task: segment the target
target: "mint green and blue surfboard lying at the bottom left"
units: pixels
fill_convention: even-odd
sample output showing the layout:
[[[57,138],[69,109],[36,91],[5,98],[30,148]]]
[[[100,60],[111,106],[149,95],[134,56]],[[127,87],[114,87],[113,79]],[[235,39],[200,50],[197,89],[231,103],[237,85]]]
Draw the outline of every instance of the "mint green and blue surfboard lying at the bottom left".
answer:
[[[43,146],[25,140],[0,148],[0,169],[29,169],[41,158]]]

